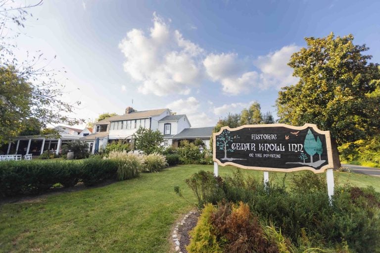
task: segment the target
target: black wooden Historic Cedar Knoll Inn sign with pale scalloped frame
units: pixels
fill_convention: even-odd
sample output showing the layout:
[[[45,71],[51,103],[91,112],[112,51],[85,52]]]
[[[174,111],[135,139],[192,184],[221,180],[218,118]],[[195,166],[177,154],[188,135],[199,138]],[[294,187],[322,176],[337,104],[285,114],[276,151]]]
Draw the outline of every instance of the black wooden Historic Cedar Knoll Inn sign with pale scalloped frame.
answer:
[[[213,135],[213,160],[242,169],[321,173],[333,168],[330,131],[313,124],[222,127]]]

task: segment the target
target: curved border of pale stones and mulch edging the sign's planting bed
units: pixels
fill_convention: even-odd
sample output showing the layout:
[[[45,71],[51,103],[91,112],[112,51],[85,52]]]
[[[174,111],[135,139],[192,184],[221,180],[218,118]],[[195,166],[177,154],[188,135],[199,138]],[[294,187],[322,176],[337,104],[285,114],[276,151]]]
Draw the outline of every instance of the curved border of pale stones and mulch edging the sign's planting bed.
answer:
[[[189,213],[187,213],[180,222],[177,222],[171,238],[174,244],[175,252],[187,253],[185,247],[190,242],[188,233],[196,225],[198,216],[199,213],[197,211],[189,211]]]

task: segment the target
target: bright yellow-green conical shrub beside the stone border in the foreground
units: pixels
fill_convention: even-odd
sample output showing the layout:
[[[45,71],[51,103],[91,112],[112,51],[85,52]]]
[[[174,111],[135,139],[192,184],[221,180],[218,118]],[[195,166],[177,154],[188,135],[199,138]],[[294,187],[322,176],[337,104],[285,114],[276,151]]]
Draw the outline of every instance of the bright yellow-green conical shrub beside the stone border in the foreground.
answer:
[[[190,231],[190,244],[186,247],[189,253],[222,253],[214,228],[211,225],[211,215],[215,211],[212,204],[204,207],[196,226]]]

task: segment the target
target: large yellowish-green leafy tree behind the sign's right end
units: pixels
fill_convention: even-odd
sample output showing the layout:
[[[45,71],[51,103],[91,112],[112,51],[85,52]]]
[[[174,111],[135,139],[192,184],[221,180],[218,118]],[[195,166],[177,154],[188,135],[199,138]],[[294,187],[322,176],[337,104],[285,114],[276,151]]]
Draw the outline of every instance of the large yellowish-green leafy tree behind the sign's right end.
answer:
[[[288,65],[297,84],[283,87],[277,99],[280,123],[316,124],[330,130],[338,144],[379,131],[380,71],[369,63],[369,48],[352,35],[305,38],[307,47]]]

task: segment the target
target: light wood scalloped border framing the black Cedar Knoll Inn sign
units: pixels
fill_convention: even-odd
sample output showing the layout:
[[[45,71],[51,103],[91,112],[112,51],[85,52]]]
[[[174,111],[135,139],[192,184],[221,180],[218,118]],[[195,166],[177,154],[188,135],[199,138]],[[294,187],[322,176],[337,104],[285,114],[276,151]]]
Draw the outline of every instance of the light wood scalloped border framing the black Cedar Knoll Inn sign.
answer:
[[[304,130],[308,127],[313,128],[313,130],[319,134],[323,134],[326,137],[326,151],[327,151],[327,157],[328,157],[328,164],[321,167],[321,169],[313,169],[308,166],[301,166],[301,167],[296,167],[296,168],[291,168],[291,169],[280,169],[280,168],[267,168],[267,167],[254,167],[254,166],[244,166],[244,165],[239,165],[234,162],[226,162],[226,163],[221,163],[217,158],[216,158],[216,136],[221,134],[223,130],[227,129],[229,131],[236,131],[242,128],[255,128],[255,127],[286,127],[291,130]],[[325,172],[326,169],[333,169],[333,161],[332,161],[332,146],[331,146],[331,137],[330,137],[330,131],[323,131],[318,129],[317,125],[315,124],[305,124],[302,127],[294,127],[286,124],[265,124],[265,125],[244,125],[241,127],[236,127],[236,128],[230,128],[230,127],[222,127],[221,130],[217,133],[213,133],[213,161],[216,162],[220,166],[227,166],[227,165],[232,165],[241,169],[253,169],[253,170],[263,170],[263,171],[279,171],[279,172],[292,172],[292,171],[299,171],[299,170],[310,170],[313,171],[314,173],[323,173]]]

